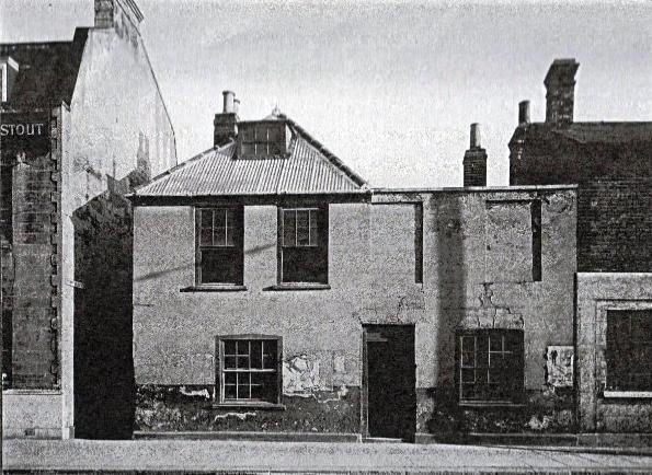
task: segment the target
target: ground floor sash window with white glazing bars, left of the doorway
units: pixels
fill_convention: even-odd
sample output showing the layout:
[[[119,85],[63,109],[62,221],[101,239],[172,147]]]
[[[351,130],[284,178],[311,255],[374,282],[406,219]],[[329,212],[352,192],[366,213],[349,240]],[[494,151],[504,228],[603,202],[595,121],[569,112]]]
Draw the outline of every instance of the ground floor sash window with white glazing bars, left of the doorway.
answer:
[[[216,347],[218,403],[281,403],[281,337],[218,336]]]

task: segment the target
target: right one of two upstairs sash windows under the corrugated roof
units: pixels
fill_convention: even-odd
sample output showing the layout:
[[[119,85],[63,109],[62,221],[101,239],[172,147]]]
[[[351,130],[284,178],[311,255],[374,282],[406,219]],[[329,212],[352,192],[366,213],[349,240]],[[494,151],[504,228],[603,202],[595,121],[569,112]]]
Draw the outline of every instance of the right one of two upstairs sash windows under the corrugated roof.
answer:
[[[328,283],[328,207],[279,210],[282,283]]]

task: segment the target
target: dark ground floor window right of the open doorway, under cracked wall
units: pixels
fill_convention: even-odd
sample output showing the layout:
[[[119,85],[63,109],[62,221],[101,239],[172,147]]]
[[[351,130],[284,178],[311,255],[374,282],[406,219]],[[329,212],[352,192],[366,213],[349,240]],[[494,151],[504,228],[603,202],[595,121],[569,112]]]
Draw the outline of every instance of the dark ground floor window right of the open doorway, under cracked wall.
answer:
[[[456,380],[460,403],[516,403],[523,395],[523,331],[476,329],[457,334]]]

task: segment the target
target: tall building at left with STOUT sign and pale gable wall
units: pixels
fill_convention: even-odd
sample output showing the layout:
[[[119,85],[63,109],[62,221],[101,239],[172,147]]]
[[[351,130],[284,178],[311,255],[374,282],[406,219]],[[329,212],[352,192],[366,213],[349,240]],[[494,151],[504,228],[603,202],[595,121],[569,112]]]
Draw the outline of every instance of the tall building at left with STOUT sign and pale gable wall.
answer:
[[[72,40],[0,45],[5,437],[118,437],[133,415],[131,215],[176,164],[133,0]]]

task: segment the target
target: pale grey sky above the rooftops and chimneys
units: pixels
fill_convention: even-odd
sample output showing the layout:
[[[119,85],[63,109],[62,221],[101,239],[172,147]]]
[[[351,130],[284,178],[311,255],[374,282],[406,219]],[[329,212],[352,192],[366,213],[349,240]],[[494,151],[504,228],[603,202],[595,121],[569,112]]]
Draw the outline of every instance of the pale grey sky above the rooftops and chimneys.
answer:
[[[221,91],[278,108],[373,186],[461,186],[480,123],[508,183],[518,102],[546,113],[554,58],[580,62],[575,120],[652,120],[652,2],[136,0],[180,161],[213,146]],[[0,0],[0,42],[72,38],[92,0]]]

